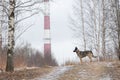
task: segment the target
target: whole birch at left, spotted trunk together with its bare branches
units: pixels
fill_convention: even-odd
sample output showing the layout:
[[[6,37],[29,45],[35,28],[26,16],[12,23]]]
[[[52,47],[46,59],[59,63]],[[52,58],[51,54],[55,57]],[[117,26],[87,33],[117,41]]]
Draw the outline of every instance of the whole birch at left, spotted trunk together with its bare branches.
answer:
[[[31,16],[34,16],[35,14],[38,14],[41,9],[38,7],[40,3],[43,3],[43,0],[5,0],[6,4],[0,4],[3,8],[5,8],[5,16],[7,16],[7,19],[4,20],[4,23],[8,23],[8,27],[6,28],[8,30],[8,50],[7,50],[7,63],[6,63],[6,71],[13,72],[14,71],[14,47],[15,47],[15,33],[18,29],[23,28],[22,26],[18,25],[22,21],[30,18]],[[25,15],[27,14],[27,15]],[[19,27],[19,28],[18,28]],[[24,26],[25,27],[25,26]],[[26,27],[27,29],[28,27]],[[26,31],[23,30],[23,31]],[[21,35],[18,34],[19,37]]]

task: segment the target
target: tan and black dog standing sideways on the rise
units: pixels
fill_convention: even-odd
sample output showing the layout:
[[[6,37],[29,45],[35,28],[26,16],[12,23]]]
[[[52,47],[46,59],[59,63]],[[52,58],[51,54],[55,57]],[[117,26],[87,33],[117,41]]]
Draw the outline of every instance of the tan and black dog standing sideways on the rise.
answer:
[[[76,52],[77,56],[80,58],[80,62],[82,63],[82,58],[88,56],[90,59],[90,62],[92,62],[92,57],[96,58],[97,56],[94,56],[92,51],[80,51],[77,47],[73,50],[73,52]]]

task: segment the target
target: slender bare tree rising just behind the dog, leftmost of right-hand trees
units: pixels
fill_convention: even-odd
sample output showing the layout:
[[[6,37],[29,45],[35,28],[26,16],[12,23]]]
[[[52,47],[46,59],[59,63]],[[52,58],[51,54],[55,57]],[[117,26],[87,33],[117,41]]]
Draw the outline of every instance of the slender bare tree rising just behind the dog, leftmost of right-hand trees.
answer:
[[[84,0],[75,0],[73,5],[73,17],[70,18],[70,28],[75,32],[75,37],[82,42],[83,49],[87,48],[86,28],[84,20]],[[79,44],[79,43],[78,43]]]

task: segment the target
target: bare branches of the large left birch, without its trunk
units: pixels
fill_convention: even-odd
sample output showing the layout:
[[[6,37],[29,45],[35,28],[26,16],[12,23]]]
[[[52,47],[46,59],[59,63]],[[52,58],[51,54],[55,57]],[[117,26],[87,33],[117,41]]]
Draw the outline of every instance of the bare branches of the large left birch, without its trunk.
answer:
[[[9,2],[8,0],[4,0],[4,4],[2,4],[3,0],[0,0],[0,7],[3,7],[4,10],[0,10],[1,12],[4,12],[4,15],[0,16],[9,16]],[[40,4],[43,3],[44,0],[16,0],[15,1],[15,7],[14,7],[14,15],[15,15],[15,27],[17,27],[18,24],[20,24],[22,21],[31,18],[32,16],[42,12],[43,9],[39,7]],[[1,22],[8,24],[8,19],[3,20],[1,19]],[[26,30],[25,30],[26,31]],[[22,33],[22,32],[21,32]]]

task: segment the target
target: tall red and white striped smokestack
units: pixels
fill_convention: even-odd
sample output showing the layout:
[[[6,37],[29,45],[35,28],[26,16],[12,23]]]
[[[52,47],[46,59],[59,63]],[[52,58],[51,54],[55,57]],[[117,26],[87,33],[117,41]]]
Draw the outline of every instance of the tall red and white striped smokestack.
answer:
[[[44,56],[51,54],[51,37],[50,37],[50,3],[44,0]]]

